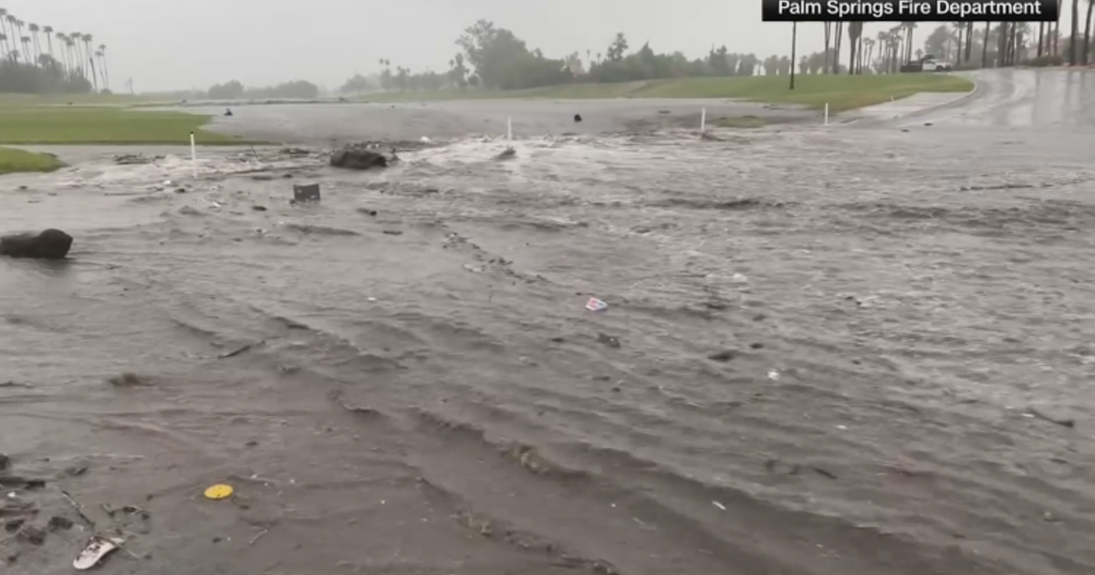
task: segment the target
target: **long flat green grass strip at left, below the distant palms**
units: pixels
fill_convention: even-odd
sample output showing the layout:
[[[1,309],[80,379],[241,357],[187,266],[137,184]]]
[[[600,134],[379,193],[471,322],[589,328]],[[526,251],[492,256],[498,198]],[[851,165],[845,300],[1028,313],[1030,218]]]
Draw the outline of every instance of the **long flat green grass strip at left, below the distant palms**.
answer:
[[[189,143],[192,131],[205,146],[249,143],[203,130],[209,120],[182,112],[0,103],[0,143]]]

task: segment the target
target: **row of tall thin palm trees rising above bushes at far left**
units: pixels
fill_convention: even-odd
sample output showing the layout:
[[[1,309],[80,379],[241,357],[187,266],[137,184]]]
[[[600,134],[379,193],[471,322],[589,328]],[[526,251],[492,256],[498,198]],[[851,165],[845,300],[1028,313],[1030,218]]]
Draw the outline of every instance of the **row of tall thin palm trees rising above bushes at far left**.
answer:
[[[23,32],[24,26],[26,33]],[[54,39],[57,41],[56,51]],[[95,37],[91,34],[56,32],[53,26],[27,24],[0,8],[0,60],[43,69],[59,68],[69,78],[79,76],[90,80],[99,92],[100,82],[103,90],[110,90],[111,76],[106,68],[106,45],[93,48],[94,42]]]

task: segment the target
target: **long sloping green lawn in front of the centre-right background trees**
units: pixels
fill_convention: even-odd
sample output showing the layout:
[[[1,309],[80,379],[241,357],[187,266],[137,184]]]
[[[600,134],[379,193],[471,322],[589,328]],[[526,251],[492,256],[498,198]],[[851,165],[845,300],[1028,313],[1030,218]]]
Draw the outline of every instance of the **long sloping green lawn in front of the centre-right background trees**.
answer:
[[[614,84],[566,84],[530,90],[445,90],[440,92],[377,93],[361,96],[368,102],[408,102],[474,99],[584,100],[606,97],[725,97],[770,104],[802,104],[830,112],[889,102],[920,92],[968,92],[969,80],[941,73],[895,73],[871,76],[803,74],[788,90],[785,76],[750,78],[682,78]]]

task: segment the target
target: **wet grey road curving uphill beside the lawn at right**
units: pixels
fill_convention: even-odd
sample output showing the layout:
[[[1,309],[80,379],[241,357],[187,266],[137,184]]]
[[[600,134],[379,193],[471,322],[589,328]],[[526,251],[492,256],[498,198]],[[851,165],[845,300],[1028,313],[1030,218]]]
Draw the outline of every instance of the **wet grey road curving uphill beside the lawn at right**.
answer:
[[[1095,126],[1095,70],[986,70],[972,78],[972,97],[897,124],[1070,133]]]

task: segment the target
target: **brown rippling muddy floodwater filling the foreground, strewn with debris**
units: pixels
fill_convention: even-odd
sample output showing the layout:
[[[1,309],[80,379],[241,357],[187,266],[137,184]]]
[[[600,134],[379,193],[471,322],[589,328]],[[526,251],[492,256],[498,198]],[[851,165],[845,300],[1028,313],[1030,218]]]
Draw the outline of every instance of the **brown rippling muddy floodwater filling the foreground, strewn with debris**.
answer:
[[[44,480],[2,568],[96,531],[110,574],[1093,573],[1095,172],[1016,138],[0,180],[0,229],[77,239],[0,261],[2,473]]]

